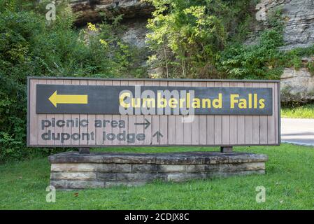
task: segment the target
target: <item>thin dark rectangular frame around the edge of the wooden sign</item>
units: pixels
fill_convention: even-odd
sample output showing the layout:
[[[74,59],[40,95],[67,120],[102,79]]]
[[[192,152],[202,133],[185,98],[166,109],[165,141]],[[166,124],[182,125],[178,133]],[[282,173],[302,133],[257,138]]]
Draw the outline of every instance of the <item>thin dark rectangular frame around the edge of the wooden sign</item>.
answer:
[[[53,148],[106,148],[106,147],[150,147],[149,145],[34,145],[30,144],[30,81],[31,79],[45,79],[45,80],[117,80],[117,81],[178,81],[178,82],[241,82],[241,83],[276,83],[278,85],[278,99],[277,99],[277,127],[278,127],[278,143],[275,144],[236,144],[236,145],[225,145],[221,144],[219,146],[280,146],[281,138],[280,138],[280,80],[236,80],[236,79],[180,79],[180,78],[85,78],[85,77],[48,77],[48,76],[27,76],[27,146],[28,147],[53,147]],[[273,99],[274,100],[274,99]],[[273,106],[275,106],[275,102],[273,102]],[[159,145],[151,145],[152,147],[164,147],[164,146],[201,146],[201,147],[217,147],[218,145],[213,144],[159,144]]]

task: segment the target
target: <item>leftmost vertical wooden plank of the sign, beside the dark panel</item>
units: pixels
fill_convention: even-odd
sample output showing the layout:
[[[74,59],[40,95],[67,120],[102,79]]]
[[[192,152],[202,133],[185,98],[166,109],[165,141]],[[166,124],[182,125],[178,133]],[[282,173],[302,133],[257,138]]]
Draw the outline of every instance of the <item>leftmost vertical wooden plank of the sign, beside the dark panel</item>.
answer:
[[[38,143],[38,115],[36,113],[36,85],[37,79],[29,80],[29,144]]]

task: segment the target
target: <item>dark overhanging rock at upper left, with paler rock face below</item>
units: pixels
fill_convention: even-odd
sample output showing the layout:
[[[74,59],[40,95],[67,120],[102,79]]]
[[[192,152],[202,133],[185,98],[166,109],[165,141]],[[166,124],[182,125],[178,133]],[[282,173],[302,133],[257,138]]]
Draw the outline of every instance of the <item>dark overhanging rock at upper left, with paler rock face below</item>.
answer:
[[[150,51],[145,43],[147,20],[154,8],[143,0],[70,0],[76,25],[85,26],[87,22],[100,22],[104,15],[111,17],[123,15],[126,27],[122,40],[138,49],[138,59],[134,66],[146,66]]]

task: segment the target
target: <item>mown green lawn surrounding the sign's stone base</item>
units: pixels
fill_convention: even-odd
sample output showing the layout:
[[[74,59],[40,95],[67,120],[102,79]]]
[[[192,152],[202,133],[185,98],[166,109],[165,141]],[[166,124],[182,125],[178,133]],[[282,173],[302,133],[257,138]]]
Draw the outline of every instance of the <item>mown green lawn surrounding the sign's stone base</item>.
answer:
[[[106,151],[157,153],[213,151],[213,148],[108,148]],[[235,151],[269,155],[266,174],[185,183],[155,182],[133,188],[57,190],[55,203],[45,202],[50,177],[47,158],[2,165],[0,209],[314,209],[313,147],[282,144],[236,147]],[[255,201],[257,186],[266,188],[265,203]]]

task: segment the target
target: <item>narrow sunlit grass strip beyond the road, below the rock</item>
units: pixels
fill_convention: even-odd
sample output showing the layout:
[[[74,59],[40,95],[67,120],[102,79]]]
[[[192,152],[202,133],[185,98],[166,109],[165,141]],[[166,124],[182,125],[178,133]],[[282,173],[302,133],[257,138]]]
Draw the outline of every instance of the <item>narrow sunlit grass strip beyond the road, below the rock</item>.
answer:
[[[314,118],[314,104],[306,104],[297,107],[283,107],[282,118]]]

